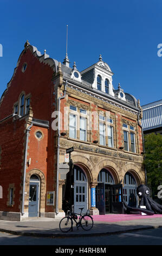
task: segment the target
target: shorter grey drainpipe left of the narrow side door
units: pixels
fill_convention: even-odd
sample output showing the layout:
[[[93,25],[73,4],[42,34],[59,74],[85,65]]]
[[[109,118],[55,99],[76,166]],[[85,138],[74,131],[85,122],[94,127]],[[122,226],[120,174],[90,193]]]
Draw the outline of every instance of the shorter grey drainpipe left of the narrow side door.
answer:
[[[26,130],[26,144],[25,144],[25,159],[24,159],[24,173],[23,173],[23,192],[22,192],[22,214],[24,214],[24,198],[25,198],[25,179],[26,179],[26,169],[27,169],[27,153],[28,153],[28,140],[29,140],[29,131],[33,126],[33,123],[28,126]]]

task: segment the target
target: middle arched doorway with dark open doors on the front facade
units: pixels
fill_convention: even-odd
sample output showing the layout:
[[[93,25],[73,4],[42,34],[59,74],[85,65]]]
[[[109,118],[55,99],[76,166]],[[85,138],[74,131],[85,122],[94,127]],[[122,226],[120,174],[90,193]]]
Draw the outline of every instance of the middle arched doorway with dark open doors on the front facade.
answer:
[[[112,174],[103,168],[98,175],[98,186],[96,186],[96,208],[100,214],[111,212],[111,186],[114,184]]]

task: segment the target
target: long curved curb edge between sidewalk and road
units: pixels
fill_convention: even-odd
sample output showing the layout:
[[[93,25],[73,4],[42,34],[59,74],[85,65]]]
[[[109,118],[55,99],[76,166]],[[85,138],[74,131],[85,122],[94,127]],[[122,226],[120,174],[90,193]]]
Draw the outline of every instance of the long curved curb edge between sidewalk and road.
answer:
[[[119,231],[111,231],[111,232],[102,232],[102,233],[89,233],[89,234],[53,234],[53,233],[38,233],[38,232],[28,232],[28,231],[14,231],[14,230],[8,230],[8,229],[2,229],[0,228],[0,231],[3,233],[9,233],[12,235],[23,235],[23,236],[36,236],[36,237],[52,237],[52,238],[65,238],[65,237],[81,237],[81,236],[104,236],[104,235],[115,235],[115,234],[122,234],[122,233],[127,233],[127,232],[132,232],[132,231],[139,231],[139,230],[147,230],[147,229],[156,229],[156,228],[161,228],[162,225],[158,226],[148,226],[145,228],[133,228],[133,229],[127,229],[127,230],[119,230]],[[70,232],[70,231],[69,231]]]

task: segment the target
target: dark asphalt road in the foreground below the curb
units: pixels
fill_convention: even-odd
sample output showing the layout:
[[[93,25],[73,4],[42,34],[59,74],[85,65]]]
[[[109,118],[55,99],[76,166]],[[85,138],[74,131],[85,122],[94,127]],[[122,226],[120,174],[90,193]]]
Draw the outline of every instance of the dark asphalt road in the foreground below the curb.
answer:
[[[0,233],[0,245],[162,245],[162,228],[93,237],[47,238]]]

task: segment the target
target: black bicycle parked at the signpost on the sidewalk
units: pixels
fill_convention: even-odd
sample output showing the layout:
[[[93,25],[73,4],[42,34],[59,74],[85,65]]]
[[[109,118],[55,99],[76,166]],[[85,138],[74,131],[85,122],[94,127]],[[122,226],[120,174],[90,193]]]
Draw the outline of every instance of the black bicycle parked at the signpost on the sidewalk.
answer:
[[[62,232],[68,232],[68,231],[73,231],[73,221],[76,223],[77,229],[81,226],[82,229],[84,230],[90,230],[93,227],[93,218],[92,216],[89,215],[89,212],[85,215],[82,215],[82,210],[84,208],[79,208],[81,210],[80,214],[75,214],[71,211],[67,212],[67,216],[62,218],[62,220],[59,223],[59,228]],[[77,218],[77,215],[79,215],[79,221]]]

